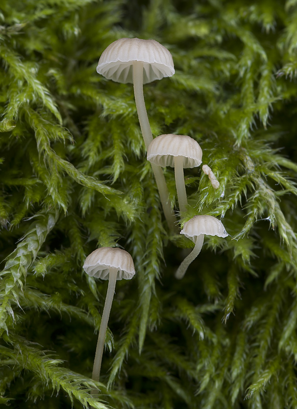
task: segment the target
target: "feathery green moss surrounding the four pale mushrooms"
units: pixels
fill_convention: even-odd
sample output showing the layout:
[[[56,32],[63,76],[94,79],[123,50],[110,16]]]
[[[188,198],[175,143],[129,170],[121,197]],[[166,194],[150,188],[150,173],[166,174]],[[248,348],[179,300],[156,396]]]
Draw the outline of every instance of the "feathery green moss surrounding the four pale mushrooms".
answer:
[[[0,10],[0,406],[296,409],[297,1]],[[190,135],[220,183],[185,171],[188,218],[222,217],[230,237],[182,281],[192,244],[169,235],[133,87],[95,71],[121,37],[170,50],[176,74],[144,86],[153,134]],[[95,399],[107,283],[82,265],[116,245],[137,274],[117,283]]]

